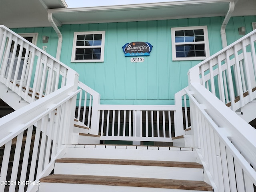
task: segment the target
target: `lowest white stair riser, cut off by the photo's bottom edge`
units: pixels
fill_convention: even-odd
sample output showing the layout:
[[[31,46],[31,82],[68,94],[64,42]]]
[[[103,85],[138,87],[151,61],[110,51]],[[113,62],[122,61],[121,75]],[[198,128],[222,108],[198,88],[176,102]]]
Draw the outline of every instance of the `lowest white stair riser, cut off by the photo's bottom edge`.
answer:
[[[61,190],[60,190],[61,189]],[[130,186],[40,183],[39,192],[202,192],[201,190],[164,189]]]

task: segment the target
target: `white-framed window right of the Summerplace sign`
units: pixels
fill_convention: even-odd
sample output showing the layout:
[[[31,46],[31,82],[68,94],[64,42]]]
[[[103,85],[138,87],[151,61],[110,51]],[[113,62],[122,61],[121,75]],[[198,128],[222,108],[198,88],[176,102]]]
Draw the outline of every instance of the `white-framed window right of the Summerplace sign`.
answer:
[[[210,56],[207,26],[175,27],[172,60],[204,60]]]

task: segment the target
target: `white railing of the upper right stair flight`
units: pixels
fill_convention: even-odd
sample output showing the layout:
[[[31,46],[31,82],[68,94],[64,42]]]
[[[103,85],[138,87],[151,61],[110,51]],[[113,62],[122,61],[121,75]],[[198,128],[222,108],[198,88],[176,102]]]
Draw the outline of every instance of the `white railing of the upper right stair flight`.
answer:
[[[190,69],[199,81],[233,111],[256,98],[256,30]],[[197,70],[192,75],[192,70]],[[199,73],[199,74],[198,74]]]

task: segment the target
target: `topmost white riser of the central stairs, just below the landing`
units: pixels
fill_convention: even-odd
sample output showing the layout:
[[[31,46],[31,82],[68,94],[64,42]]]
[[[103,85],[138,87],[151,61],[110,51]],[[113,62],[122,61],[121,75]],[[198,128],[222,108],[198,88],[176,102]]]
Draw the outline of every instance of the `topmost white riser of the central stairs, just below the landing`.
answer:
[[[67,148],[65,157],[197,162],[194,151],[180,150]]]

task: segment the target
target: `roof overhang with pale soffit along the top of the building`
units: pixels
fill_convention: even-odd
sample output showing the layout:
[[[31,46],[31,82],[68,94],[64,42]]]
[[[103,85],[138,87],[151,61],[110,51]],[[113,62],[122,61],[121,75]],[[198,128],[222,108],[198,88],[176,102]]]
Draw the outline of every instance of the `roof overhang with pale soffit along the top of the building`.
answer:
[[[52,13],[59,26],[105,22],[128,22],[225,16],[234,0],[170,0],[170,2],[66,8],[64,0],[4,0],[0,24],[8,28],[51,26]],[[237,1],[237,0],[235,0]],[[256,0],[239,0],[232,16],[256,15]]]

